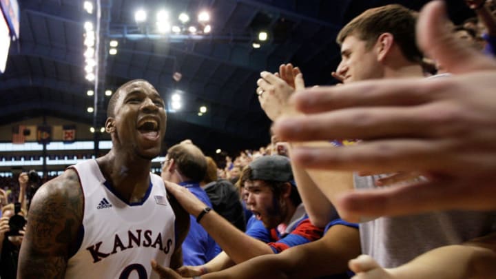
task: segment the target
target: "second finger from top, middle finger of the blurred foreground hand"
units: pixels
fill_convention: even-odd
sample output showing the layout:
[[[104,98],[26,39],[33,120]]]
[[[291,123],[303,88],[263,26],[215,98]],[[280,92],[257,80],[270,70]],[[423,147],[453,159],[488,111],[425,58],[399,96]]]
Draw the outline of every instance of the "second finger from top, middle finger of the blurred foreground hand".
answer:
[[[274,123],[273,132],[285,141],[327,141],[359,137],[364,140],[424,138],[448,131],[451,125],[446,124],[442,116],[436,120],[432,112],[431,107],[425,106],[351,108],[283,118]],[[431,127],[426,127],[426,123]]]

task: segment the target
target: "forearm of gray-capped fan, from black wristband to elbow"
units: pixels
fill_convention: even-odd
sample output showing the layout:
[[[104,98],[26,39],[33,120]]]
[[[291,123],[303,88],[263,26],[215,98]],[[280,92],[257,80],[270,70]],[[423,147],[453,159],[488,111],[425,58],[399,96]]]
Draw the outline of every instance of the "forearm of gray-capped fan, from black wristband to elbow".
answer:
[[[200,225],[236,263],[244,262],[260,255],[273,254],[269,245],[247,236],[215,211],[210,211],[209,214],[206,214],[200,220]]]

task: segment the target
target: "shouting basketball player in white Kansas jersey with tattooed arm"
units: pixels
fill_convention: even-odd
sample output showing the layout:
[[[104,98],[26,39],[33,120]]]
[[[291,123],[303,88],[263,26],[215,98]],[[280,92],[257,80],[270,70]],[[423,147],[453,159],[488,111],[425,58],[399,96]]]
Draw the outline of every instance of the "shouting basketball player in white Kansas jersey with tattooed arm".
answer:
[[[35,194],[19,278],[154,278],[152,259],[182,265],[189,216],[174,214],[163,180],[149,172],[166,118],[147,81],[116,90],[105,123],[110,152],[69,167]]]

